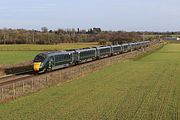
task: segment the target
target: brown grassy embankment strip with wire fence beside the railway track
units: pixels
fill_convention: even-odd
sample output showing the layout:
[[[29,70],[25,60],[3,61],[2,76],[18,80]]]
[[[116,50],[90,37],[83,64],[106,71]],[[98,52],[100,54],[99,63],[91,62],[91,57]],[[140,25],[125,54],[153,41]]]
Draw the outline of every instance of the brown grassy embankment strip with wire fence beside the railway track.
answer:
[[[152,51],[152,49],[159,48],[160,46],[162,46],[162,44],[151,46],[146,48],[145,52]],[[78,79],[88,73],[100,70],[127,58],[134,58],[135,56],[143,53],[143,51],[133,51],[0,86],[0,102],[16,99],[19,96],[23,96],[27,93],[35,92],[64,81]]]

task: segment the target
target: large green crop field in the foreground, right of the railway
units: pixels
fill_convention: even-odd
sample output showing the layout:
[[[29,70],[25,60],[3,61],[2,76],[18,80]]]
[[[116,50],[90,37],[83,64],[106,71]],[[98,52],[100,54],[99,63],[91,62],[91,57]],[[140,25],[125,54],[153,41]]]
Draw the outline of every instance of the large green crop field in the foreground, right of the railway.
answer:
[[[0,105],[0,119],[179,119],[180,44]]]

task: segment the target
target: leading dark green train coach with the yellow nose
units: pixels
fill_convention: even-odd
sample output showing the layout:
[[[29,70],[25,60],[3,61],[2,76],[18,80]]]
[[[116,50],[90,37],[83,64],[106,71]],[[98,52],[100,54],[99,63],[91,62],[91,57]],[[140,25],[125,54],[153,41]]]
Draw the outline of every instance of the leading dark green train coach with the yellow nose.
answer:
[[[72,65],[75,61],[74,51],[55,51],[38,54],[33,62],[34,72],[42,73]]]

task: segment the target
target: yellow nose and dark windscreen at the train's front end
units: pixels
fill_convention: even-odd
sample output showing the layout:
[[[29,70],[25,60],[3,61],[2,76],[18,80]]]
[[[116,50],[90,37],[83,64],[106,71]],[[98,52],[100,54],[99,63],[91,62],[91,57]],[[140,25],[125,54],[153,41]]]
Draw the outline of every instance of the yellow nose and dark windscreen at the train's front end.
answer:
[[[33,71],[35,73],[44,72],[46,55],[43,53],[38,54],[33,61]]]

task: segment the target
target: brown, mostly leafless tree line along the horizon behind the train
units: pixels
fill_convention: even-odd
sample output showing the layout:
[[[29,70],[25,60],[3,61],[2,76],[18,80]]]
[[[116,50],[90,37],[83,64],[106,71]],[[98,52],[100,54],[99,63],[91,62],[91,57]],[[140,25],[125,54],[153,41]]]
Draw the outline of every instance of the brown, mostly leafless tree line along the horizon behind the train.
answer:
[[[125,32],[125,31],[102,31],[101,28],[88,30],[58,29],[48,30],[42,27],[41,30],[26,29],[0,29],[0,44],[58,44],[76,42],[127,42],[141,41],[143,34],[148,32]]]

